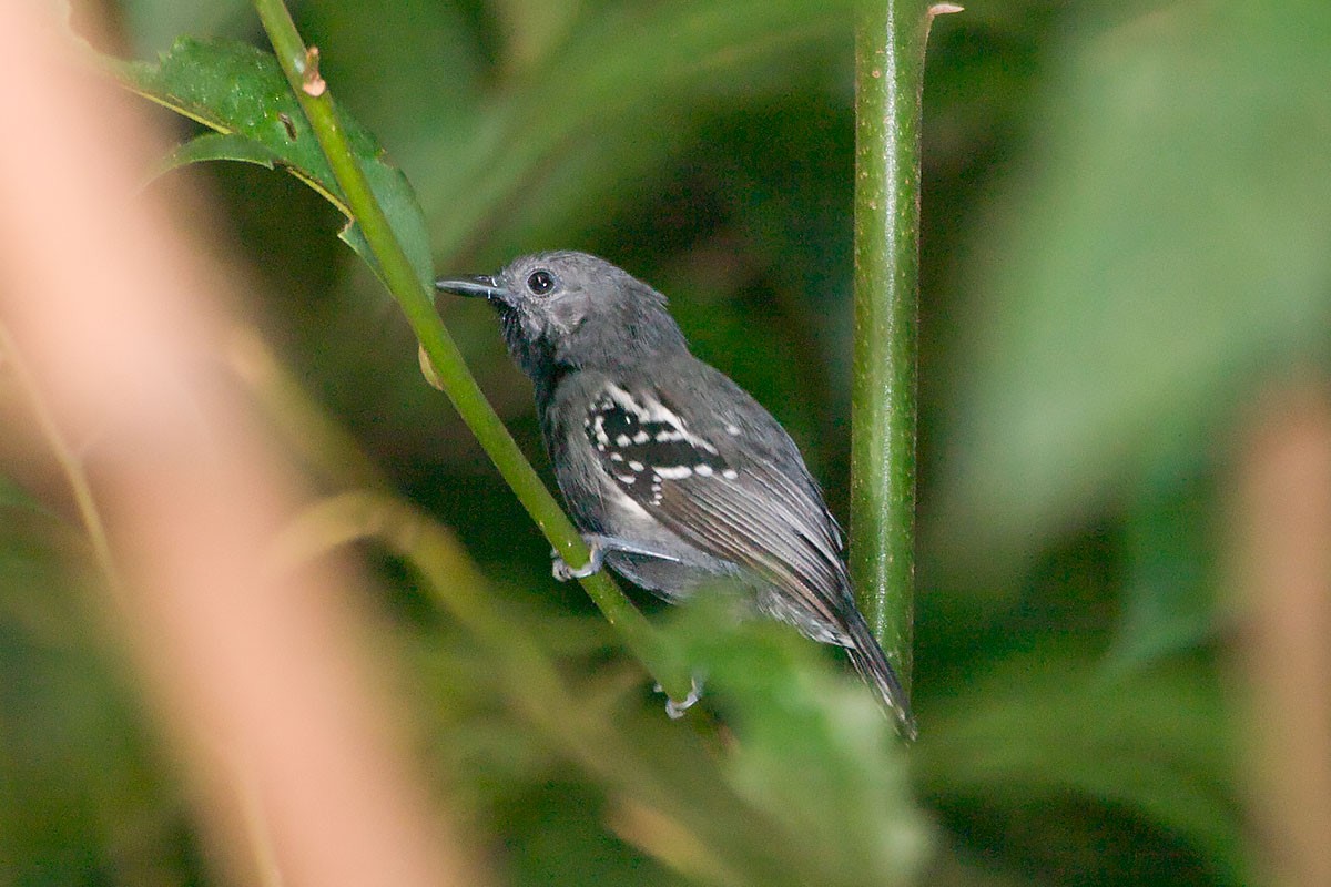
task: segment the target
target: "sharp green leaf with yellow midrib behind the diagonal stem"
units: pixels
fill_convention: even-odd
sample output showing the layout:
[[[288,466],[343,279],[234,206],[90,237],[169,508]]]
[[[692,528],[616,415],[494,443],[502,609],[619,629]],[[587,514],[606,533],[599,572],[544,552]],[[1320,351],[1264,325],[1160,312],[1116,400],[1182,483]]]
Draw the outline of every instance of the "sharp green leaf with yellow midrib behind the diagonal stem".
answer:
[[[113,63],[129,89],[198,121],[224,138],[190,142],[168,164],[198,160],[238,160],[278,164],[307,184],[350,219],[346,201],[319,149],[277,60],[241,43],[181,39],[157,64]],[[394,233],[426,289],[434,285],[434,265],[425,215],[411,185],[385,160],[383,149],[345,110],[339,117],[365,174]],[[369,245],[354,222],[342,239],[379,274]],[[381,275],[382,277],[382,275]]]

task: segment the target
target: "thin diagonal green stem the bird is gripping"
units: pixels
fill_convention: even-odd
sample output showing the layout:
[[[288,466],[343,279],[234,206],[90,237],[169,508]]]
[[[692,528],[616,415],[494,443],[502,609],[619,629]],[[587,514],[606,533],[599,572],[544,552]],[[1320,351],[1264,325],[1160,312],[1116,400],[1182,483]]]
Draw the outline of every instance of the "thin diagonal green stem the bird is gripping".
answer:
[[[512,488],[527,513],[555,547],[564,563],[578,567],[588,561],[587,547],[564,515],[559,503],[540,481],[536,471],[522,455],[503,422],[480,392],[480,386],[467,370],[462,352],[453,342],[434,310],[434,299],[425,290],[407,261],[389,221],[375,201],[370,184],[355,160],[326,84],[318,76],[317,55],[306,51],[290,12],[282,0],[254,0],[264,29],[268,32],[277,60],[295,93],[305,116],[314,129],[319,148],[329,160],[333,174],[346,197],[355,223],[383,273],[389,291],[402,306],[445,392],[471,428],[476,440]],[[583,588],[600,612],[624,638],[626,646],[647,666],[652,677],[675,699],[691,689],[689,678],[660,664],[660,652],[647,620],[604,572],[582,580]]]

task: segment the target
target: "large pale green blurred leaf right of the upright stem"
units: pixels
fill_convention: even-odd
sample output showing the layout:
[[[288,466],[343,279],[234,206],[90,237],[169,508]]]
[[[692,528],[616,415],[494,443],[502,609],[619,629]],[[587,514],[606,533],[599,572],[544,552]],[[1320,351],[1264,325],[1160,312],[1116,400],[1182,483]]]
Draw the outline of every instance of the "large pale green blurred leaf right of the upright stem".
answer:
[[[1324,352],[1328,48],[1328,4],[1191,0],[1054,64],[1036,150],[976,229],[938,520],[968,565],[1030,552],[1263,368]]]

